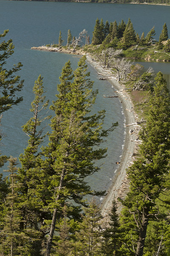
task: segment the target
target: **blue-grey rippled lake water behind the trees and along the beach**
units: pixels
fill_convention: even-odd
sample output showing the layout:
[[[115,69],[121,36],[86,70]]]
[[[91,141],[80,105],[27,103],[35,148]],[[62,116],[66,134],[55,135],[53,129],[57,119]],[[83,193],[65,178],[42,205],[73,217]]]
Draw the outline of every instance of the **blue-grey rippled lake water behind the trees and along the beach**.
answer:
[[[107,4],[107,3],[59,3],[40,1],[6,1],[0,0],[0,33],[9,29],[6,36],[12,38],[15,52],[8,59],[7,66],[22,62],[23,67],[20,76],[25,79],[25,86],[20,95],[23,102],[10,111],[3,114],[1,130],[6,137],[1,144],[1,153],[18,157],[27,145],[27,137],[21,126],[30,118],[30,103],[34,98],[32,87],[34,81],[41,74],[44,77],[44,87],[47,99],[55,99],[57,83],[61,69],[68,59],[72,67],[77,67],[78,58],[72,55],[57,52],[40,52],[31,50],[32,46],[44,44],[57,44],[59,31],[62,39],[66,42],[68,29],[77,36],[80,31],[86,29],[92,38],[95,20],[103,18],[104,22],[122,19],[127,22],[128,18],[133,22],[134,28],[139,35],[144,31],[145,35],[155,26],[156,39],[162,30],[164,23],[170,29],[170,6],[153,5],[130,5],[130,4]],[[154,64],[158,67],[158,64]],[[170,64],[163,63],[169,76]],[[107,81],[100,81],[95,70],[89,65],[91,79],[94,81],[94,89],[99,89],[93,111],[105,109],[105,128],[110,127],[112,122],[119,122],[119,126],[107,139],[108,157],[105,158],[101,172],[90,177],[89,182],[95,189],[105,189],[111,184],[111,178],[116,172],[116,161],[121,159],[122,145],[125,140],[125,117],[122,106],[117,98],[103,98],[103,95],[113,95],[113,88]],[[158,70],[159,71],[159,70]],[[169,73],[168,73],[169,72]],[[48,143],[46,140],[45,143]],[[102,162],[101,162],[102,163]],[[100,164],[101,164],[100,163]]]

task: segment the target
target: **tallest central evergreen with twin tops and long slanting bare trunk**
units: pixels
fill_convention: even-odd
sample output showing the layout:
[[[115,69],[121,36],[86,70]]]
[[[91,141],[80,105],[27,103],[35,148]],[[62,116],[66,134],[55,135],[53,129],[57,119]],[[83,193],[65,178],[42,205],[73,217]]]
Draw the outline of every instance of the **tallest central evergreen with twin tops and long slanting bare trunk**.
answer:
[[[94,166],[94,160],[105,157],[106,149],[95,149],[94,146],[100,145],[108,134],[108,131],[101,130],[104,111],[89,115],[97,94],[92,92],[93,82],[88,79],[89,75],[83,57],[74,71],[72,82],[73,73],[68,61],[59,78],[57,100],[51,106],[55,116],[51,119],[50,143],[44,149],[49,166],[46,176],[51,175],[48,189],[50,194],[53,192],[48,205],[53,217],[47,239],[47,256],[51,253],[55,224],[65,201],[69,198],[81,205],[85,204],[84,195],[101,195],[92,192],[84,181],[85,177],[99,170]]]

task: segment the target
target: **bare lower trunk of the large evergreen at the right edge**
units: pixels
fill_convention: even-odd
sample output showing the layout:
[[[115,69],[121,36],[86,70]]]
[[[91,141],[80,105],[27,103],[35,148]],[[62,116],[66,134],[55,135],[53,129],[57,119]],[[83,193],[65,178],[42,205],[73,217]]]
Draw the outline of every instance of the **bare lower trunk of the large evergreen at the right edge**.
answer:
[[[143,216],[142,216],[142,224],[141,224],[141,228],[139,230],[139,239],[137,242],[136,256],[143,255],[144,242],[145,242],[146,232],[147,232],[147,225],[148,225],[148,211],[146,211],[146,209],[144,209]]]

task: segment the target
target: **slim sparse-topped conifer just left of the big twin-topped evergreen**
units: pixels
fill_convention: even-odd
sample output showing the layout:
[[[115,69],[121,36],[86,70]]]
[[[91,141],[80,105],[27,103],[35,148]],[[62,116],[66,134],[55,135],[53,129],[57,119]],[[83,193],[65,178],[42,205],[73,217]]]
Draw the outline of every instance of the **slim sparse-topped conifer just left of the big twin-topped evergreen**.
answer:
[[[20,228],[27,229],[29,225],[40,230],[40,225],[45,218],[43,207],[45,204],[45,190],[43,190],[44,179],[41,172],[42,159],[40,156],[40,145],[45,135],[42,123],[51,116],[46,115],[48,101],[45,102],[43,91],[43,82],[41,75],[35,81],[33,92],[35,98],[31,103],[31,113],[33,116],[23,125],[23,131],[27,134],[28,146],[23,154],[20,154],[21,168],[18,170],[18,198],[20,200],[20,209],[22,209]],[[41,189],[39,189],[39,187]],[[41,193],[42,191],[42,193]],[[31,220],[31,222],[30,222]]]

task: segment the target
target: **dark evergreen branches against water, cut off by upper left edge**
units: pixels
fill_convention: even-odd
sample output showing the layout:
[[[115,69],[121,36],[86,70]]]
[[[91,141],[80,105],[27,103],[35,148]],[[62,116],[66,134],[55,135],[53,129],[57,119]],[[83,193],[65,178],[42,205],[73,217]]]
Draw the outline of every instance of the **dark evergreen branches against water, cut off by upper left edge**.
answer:
[[[4,30],[3,34],[0,34],[0,39],[4,38],[8,30]],[[19,62],[14,65],[13,68],[7,70],[5,68],[6,60],[14,53],[14,45],[12,40],[0,43],[0,114],[13,105],[17,105],[23,100],[23,97],[18,97],[17,93],[23,88],[23,80],[20,81],[20,76],[15,76],[15,73],[19,71],[22,64]]]

